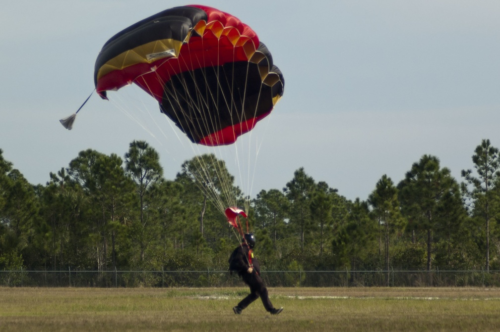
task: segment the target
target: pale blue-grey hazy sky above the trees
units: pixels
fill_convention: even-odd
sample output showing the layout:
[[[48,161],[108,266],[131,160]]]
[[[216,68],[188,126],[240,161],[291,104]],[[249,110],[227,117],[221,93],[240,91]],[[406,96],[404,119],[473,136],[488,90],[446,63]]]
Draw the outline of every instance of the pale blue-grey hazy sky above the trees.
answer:
[[[59,119],[92,92],[95,58],[107,39],[190,3],[196,2],[4,3],[3,158],[30,183],[45,184],[49,172],[82,150],[123,157],[130,142],[145,140],[159,153],[165,178],[173,179],[196,151],[147,94],[126,87],[113,92],[118,102],[109,102],[94,93],[71,131]],[[197,3],[251,26],[284,76],[283,97],[255,128],[259,150],[246,194],[282,189],[303,167],[347,199],[364,200],[383,174],[397,184],[422,155],[438,157],[460,182],[482,139],[500,147],[498,0]],[[126,98],[138,106],[123,111]]]

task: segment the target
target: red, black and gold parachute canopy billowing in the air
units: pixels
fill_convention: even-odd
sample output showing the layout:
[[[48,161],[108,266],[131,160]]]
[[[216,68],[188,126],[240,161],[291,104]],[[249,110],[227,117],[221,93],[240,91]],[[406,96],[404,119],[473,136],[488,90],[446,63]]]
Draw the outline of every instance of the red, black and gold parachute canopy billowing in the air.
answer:
[[[193,143],[207,146],[250,131],[284,87],[250,27],[202,5],[166,9],[111,37],[95,61],[94,83],[104,99],[137,84]]]

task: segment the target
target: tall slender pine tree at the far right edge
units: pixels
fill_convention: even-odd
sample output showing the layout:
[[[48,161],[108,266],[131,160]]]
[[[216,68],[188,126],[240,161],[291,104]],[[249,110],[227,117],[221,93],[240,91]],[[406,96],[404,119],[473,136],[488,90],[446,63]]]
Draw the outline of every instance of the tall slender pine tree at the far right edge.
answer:
[[[490,223],[493,216],[498,213],[498,195],[495,185],[500,174],[500,158],[498,149],[491,145],[489,140],[482,140],[474,150],[472,163],[478,176],[472,175],[472,169],[462,170],[461,176],[466,184],[462,184],[462,191],[468,198],[468,206],[472,209],[472,215],[481,218],[484,225],[484,257],[485,270],[489,271],[490,253]]]

